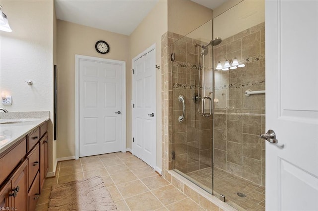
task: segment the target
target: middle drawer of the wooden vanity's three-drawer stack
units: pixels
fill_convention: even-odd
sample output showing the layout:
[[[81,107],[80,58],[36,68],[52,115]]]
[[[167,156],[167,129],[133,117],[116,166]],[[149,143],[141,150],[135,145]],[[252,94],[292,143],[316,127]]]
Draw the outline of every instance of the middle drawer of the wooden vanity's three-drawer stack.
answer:
[[[29,174],[28,188],[31,187],[34,177],[39,171],[39,166],[40,166],[40,150],[39,150],[39,145],[37,145],[32,150],[32,152],[28,155],[28,174]]]

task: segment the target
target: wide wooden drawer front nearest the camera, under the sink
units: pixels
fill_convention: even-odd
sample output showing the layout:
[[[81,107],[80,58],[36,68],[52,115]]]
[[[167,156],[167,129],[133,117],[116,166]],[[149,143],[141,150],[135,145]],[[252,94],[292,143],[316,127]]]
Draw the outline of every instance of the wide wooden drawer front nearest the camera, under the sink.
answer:
[[[0,159],[0,180],[1,183],[9,176],[13,169],[25,157],[26,154],[26,139],[17,142],[17,146],[5,154]]]

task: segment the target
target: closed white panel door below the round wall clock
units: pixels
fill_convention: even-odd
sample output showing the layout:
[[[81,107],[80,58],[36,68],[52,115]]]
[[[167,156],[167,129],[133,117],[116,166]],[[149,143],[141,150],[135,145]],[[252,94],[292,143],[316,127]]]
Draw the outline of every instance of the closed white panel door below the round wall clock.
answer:
[[[79,60],[79,157],[122,150],[121,68]]]

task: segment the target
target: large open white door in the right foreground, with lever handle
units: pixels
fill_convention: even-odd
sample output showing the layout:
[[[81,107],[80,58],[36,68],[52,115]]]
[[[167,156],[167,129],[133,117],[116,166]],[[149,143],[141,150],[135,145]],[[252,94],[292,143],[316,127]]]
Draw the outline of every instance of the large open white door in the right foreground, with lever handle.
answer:
[[[318,1],[268,0],[266,210],[318,210]]]

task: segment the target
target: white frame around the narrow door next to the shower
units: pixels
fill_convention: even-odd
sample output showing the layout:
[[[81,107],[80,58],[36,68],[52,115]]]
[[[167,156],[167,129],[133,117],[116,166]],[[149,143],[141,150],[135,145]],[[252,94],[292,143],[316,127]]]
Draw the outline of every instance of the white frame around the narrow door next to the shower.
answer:
[[[142,53],[139,53],[137,56],[135,56],[133,59],[132,59],[132,69],[134,69],[134,62],[146,55],[147,53],[151,52],[151,51],[155,51],[155,63],[156,63],[156,43],[154,43],[153,45],[151,45],[150,47],[148,47],[147,49],[145,49]],[[155,67],[154,67],[155,68]],[[132,95],[132,102],[134,102],[134,99],[135,99],[135,96],[134,96],[134,79],[133,79],[134,76],[132,76],[132,92],[133,92],[133,95]],[[155,96],[156,96],[156,84],[157,84],[157,80],[156,80],[156,69],[155,69]],[[156,98],[155,98],[155,112],[157,111],[157,102],[156,102]],[[156,115],[155,115],[156,116]],[[155,152],[155,166],[154,166],[154,169],[156,170],[157,169],[157,117],[155,117],[155,149],[154,149],[154,152]],[[133,112],[132,112],[132,136],[134,137],[134,108],[133,108]],[[133,137],[131,137],[131,140],[133,139]],[[133,155],[134,154],[134,144],[132,143],[132,153]]]

